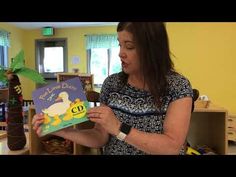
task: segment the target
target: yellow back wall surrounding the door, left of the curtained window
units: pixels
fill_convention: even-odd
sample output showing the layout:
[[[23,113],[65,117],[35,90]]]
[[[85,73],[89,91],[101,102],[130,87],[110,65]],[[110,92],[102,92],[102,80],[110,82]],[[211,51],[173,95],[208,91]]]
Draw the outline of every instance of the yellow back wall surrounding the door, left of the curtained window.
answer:
[[[85,49],[85,34],[102,34],[116,33],[116,26],[105,27],[80,27],[80,28],[64,28],[55,29],[55,35],[51,38],[67,38],[68,47],[68,71],[72,72],[73,68],[79,68],[81,73],[87,72],[87,59]],[[25,30],[24,31],[24,46],[26,65],[30,68],[35,68],[35,40],[46,39],[41,35],[41,30]],[[79,56],[80,63],[72,66],[72,57]],[[23,82],[22,82],[23,85]],[[23,89],[24,97],[31,98],[31,92],[35,89],[33,82],[28,82],[27,89]],[[30,90],[30,92],[29,92]]]

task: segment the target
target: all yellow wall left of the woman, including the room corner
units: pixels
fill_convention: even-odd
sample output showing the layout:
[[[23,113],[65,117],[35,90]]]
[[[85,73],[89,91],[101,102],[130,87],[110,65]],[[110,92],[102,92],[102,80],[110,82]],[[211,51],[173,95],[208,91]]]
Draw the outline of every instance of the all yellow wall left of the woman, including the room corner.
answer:
[[[0,28],[11,32],[11,47],[9,48],[9,58],[14,57],[21,49],[25,52],[25,64],[27,67],[35,68],[35,40],[45,39],[41,35],[41,30],[22,30],[6,23],[0,23]],[[79,68],[80,72],[87,72],[85,34],[102,34],[116,33],[116,26],[105,27],[81,27],[56,29],[52,38],[67,38],[68,45],[68,71],[72,68]],[[72,66],[71,59],[73,56],[80,57],[80,63]],[[20,77],[23,97],[31,99],[32,91],[35,89],[35,83],[31,80]]]

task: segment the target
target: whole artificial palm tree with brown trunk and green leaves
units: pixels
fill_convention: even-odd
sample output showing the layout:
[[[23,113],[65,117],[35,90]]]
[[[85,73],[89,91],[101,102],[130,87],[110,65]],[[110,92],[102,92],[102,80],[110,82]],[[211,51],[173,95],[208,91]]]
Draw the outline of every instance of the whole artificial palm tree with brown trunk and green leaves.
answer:
[[[35,83],[45,83],[35,70],[25,67],[24,52],[21,50],[11,61],[9,68],[0,66],[0,81],[8,85],[7,145],[10,150],[23,149],[26,144],[23,123],[23,96],[18,75]]]

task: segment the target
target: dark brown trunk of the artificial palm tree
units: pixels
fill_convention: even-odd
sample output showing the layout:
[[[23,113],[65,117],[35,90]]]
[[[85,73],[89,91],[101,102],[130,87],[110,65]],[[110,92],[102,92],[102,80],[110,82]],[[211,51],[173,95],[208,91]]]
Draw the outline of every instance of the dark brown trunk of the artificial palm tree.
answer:
[[[26,144],[23,124],[22,90],[17,75],[9,77],[9,100],[7,118],[7,145],[10,150],[23,149]]]

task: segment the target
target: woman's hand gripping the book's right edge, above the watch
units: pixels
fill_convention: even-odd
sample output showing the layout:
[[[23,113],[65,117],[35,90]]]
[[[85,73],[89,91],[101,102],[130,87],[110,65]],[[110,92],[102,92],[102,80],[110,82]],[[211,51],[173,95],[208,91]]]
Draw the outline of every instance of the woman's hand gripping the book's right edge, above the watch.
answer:
[[[112,135],[119,133],[121,123],[108,106],[102,105],[91,108],[88,110],[87,115],[89,120],[100,124],[108,133]]]

